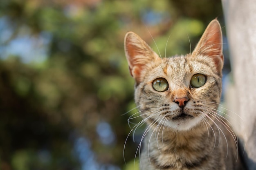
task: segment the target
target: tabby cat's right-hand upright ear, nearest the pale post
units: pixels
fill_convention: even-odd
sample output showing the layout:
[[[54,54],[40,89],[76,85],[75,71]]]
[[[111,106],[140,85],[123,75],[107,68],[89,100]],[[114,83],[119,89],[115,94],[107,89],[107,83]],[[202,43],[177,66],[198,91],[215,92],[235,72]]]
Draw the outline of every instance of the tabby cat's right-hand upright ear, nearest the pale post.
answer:
[[[205,55],[213,59],[218,72],[224,64],[222,54],[222,32],[217,19],[212,20],[205,29],[201,39],[196,45],[192,56]]]

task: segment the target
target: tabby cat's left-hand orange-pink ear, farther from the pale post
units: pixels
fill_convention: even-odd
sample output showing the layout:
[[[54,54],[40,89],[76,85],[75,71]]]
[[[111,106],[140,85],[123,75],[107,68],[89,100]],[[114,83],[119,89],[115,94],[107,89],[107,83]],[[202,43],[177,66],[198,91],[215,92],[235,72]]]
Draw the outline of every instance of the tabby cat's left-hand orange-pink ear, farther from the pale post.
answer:
[[[124,38],[124,49],[130,74],[137,83],[142,81],[141,72],[149,62],[160,60],[159,56],[142,40],[139,35],[128,32]]]

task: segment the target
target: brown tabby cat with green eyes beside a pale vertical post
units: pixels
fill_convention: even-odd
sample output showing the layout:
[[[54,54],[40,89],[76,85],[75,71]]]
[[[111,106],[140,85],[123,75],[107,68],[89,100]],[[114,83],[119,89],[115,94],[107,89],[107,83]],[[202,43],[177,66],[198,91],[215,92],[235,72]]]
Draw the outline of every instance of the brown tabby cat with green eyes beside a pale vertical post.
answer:
[[[161,58],[133,32],[124,48],[140,124],[147,124],[140,169],[244,170],[238,139],[218,114],[224,63],[218,20],[187,55]]]

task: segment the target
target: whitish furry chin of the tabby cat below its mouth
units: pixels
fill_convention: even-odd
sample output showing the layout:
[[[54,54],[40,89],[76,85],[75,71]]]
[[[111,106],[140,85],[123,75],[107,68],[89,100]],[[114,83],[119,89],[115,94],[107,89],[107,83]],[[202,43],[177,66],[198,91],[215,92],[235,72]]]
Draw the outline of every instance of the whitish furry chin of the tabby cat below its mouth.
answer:
[[[197,126],[200,121],[200,117],[193,117],[186,113],[182,113],[167,121],[165,125],[174,130],[187,131]]]

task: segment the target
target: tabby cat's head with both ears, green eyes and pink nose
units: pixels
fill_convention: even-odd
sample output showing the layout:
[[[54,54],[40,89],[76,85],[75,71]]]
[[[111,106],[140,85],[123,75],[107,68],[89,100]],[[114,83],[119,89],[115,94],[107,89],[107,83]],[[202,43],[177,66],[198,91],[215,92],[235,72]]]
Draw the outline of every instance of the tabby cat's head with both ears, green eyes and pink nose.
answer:
[[[126,33],[124,47],[135,79],[135,102],[149,125],[189,130],[213,121],[224,62],[218,20],[210,22],[194,51],[187,55],[160,58],[133,32]]]

